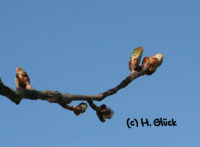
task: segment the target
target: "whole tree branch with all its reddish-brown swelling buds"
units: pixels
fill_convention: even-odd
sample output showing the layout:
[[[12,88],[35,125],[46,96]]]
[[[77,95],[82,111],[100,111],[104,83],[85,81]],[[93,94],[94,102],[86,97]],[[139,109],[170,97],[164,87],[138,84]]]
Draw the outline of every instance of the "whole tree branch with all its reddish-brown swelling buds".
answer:
[[[73,111],[76,115],[79,115],[87,109],[86,103],[80,103],[78,106],[70,106],[68,105],[72,101],[87,101],[91,108],[93,108],[100,121],[105,122],[105,119],[110,119],[114,112],[107,108],[105,104],[100,107],[96,106],[93,103],[94,101],[102,101],[104,98],[115,94],[122,88],[125,88],[136,78],[143,75],[152,75],[157,67],[159,67],[163,60],[162,54],[153,55],[151,58],[145,57],[142,63],[142,66],[139,65],[140,58],[142,56],[143,48],[138,47],[134,49],[131,60],[129,62],[129,69],[131,70],[131,74],[126,77],[118,86],[107,90],[106,92],[100,93],[99,95],[71,95],[69,93],[61,94],[58,91],[37,91],[30,84],[30,78],[27,73],[20,67],[16,69],[16,79],[15,83],[17,86],[17,90],[13,90],[3,84],[0,79],[0,95],[3,95],[9,98],[12,102],[19,104],[22,99],[30,99],[30,100],[46,100],[50,103],[58,103],[65,109]]]

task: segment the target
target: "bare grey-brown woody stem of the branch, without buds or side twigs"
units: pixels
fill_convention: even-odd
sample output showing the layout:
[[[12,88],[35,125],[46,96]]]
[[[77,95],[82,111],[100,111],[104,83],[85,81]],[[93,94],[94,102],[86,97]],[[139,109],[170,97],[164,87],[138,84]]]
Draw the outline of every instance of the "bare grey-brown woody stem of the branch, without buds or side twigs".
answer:
[[[59,103],[61,106],[66,107],[65,104],[71,103],[71,101],[75,100],[84,100],[88,101],[89,99],[93,99],[95,101],[102,101],[104,98],[115,94],[122,88],[125,88],[128,84],[130,84],[134,79],[140,77],[145,74],[145,70],[141,70],[140,72],[134,71],[132,72],[126,79],[124,79],[118,86],[109,89],[106,92],[100,93],[99,95],[70,95],[69,93],[61,94],[58,91],[37,91],[37,90],[29,90],[29,89],[20,89],[13,90],[3,84],[0,79],[0,94],[6,96],[11,101],[19,104],[19,102],[24,99],[30,100],[47,100],[50,103]]]

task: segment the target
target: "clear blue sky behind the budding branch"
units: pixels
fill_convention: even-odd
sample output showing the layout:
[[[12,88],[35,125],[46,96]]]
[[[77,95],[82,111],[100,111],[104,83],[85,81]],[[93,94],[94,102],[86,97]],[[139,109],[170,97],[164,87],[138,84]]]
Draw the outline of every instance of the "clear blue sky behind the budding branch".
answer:
[[[1,147],[200,146],[200,1],[0,1],[0,77],[15,89],[22,67],[37,90],[99,94],[130,71],[134,48],[164,54],[152,76],[133,81],[105,103],[115,111],[75,116],[46,101],[15,105],[0,96]],[[80,102],[73,102],[78,105]],[[127,128],[127,118],[174,118],[176,127]]]

